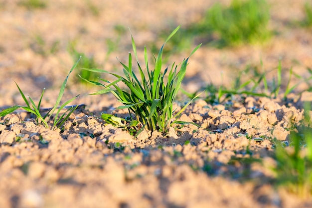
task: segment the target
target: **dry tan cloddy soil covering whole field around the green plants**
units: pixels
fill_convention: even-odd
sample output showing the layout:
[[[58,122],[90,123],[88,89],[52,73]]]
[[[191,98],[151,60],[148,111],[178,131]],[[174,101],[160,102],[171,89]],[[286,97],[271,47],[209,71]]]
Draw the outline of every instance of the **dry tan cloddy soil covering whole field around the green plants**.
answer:
[[[145,44],[160,47],[159,31],[198,21],[215,1],[53,0],[45,8],[27,9],[19,0],[0,0],[0,109],[23,104],[13,80],[36,101],[45,87],[42,105],[51,107],[74,63],[69,42],[93,55],[102,68],[121,73],[115,56],[127,60],[131,38],[126,30],[118,49],[107,56],[106,39],[116,40],[115,25],[131,28],[142,56]],[[266,70],[281,59],[283,70],[293,67],[297,74],[309,75],[312,30],[290,26],[304,18],[304,0],[268,1],[270,29],[276,35],[261,45],[202,46],[191,57],[184,89],[193,92],[211,77],[219,86],[221,71],[223,84],[230,86],[238,70],[259,65],[261,59]],[[88,2],[99,9],[98,15]],[[170,60],[182,60],[187,53]],[[222,105],[197,100],[180,120],[203,128],[175,126],[166,135],[145,131],[135,139],[100,118],[100,112],[125,116],[114,110],[115,98],[84,95],[97,88],[77,80],[71,75],[65,98],[81,94],[74,104],[86,108],[78,109],[62,131],[37,125],[22,111],[0,118],[0,208],[312,207],[311,198],[301,199],[271,183],[272,138],[287,144],[287,129],[302,119],[302,102],[311,100],[310,93],[287,102],[251,96]],[[302,84],[298,90],[305,88]],[[263,165],[246,162],[251,157],[262,158]]]

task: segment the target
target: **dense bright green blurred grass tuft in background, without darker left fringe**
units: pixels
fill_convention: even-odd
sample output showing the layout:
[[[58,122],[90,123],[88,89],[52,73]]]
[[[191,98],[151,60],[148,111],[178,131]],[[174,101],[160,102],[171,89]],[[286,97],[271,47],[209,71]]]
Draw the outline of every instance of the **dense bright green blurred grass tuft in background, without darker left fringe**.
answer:
[[[270,19],[266,0],[232,0],[229,7],[216,3],[203,22],[220,36],[223,45],[262,42],[270,36],[267,25]]]

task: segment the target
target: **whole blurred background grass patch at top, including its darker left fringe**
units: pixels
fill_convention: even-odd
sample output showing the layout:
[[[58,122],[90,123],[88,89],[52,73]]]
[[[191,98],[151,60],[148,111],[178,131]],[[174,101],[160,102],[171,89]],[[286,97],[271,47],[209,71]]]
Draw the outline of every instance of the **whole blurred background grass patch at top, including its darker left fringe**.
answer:
[[[262,43],[271,36],[270,6],[266,0],[232,0],[229,6],[215,3],[202,19],[184,26],[172,38],[168,51],[179,52],[203,42],[217,48]],[[161,31],[164,38],[167,31]]]

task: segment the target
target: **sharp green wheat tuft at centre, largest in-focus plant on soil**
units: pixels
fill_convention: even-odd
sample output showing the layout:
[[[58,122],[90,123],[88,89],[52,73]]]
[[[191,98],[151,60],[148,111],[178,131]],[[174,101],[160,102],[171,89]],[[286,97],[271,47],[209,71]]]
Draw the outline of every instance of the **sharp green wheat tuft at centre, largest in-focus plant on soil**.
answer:
[[[124,106],[118,107],[118,109],[128,108],[131,115],[135,115],[136,120],[142,123],[142,128],[138,131],[137,135],[145,128],[146,130],[159,130],[160,132],[166,132],[169,126],[174,122],[174,119],[180,115],[180,113],[186,108],[185,105],[179,112],[173,116],[172,105],[174,99],[180,89],[181,82],[185,76],[186,66],[188,58],[184,59],[180,64],[172,64],[171,68],[165,68],[164,72],[161,73],[162,68],[162,52],[165,43],[177,32],[180,25],[176,27],[172,33],[165,40],[164,44],[161,46],[157,57],[155,58],[155,68],[152,69],[149,64],[147,48],[144,48],[144,60],[145,60],[145,70],[142,69],[141,64],[138,60],[137,48],[133,36],[132,47],[134,54],[136,56],[138,69],[140,72],[140,77],[142,82],[139,81],[138,75],[135,74],[132,68],[132,54],[129,53],[128,65],[120,62],[124,67],[124,76],[120,76],[115,73],[111,73],[100,69],[84,69],[93,72],[107,73],[115,76],[117,80],[109,82],[108,80],[101,79],[107,84],[102,84],[95,81],[89,81],[90,83],[103,86],[104,89],[99,90],[93,94],[103,94],[111,92],[115,97],[124,104]],[[201,45],[201,44],[200,44]],[[198,45],[190,54],[190,56],[200,47]],[[180,70],[178,70],[178,66]],[[167,82],[165,83],[165,74],[168,72]],[[130,90],[126,91],[119,87],[118,83],[123,82],[127,88]]]

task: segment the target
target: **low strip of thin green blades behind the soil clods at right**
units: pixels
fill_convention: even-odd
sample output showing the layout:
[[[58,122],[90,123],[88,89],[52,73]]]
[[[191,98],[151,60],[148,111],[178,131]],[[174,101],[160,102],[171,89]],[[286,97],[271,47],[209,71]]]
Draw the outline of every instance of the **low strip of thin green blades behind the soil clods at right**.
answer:
[[[261,67],[264,71],[263,63],[261,61]],[[293,92],[300,84],[307,83],[309,84],[309,81],[312,79],[312,70],[310,68],[307,68],[309,73],[311,74],[308,77],[303,77],[299,74],[296,74],[293,71],[293,68],[290,68],[288,80],[286,84],[282,83],[282,64],[281,61],[279,61],[278,67],[274,68],[270,71],[264,71],[262,73],[257,73],[254,75],[251,75],[247,81],[246,80],[246,74],[250,73],[251,71],[256,72],[256,68],[254,67],[248,67],[246,70],[240,71],[238,75],[235,77],[235,81],[232,87],[227,88],[224,85],[221,85],[219,87],[213,85],[212,81],[210,84],[208,84],[205,87],[206,95],[206,102],[209,103],[222,103],[227,98],[231,98],[233,95],[247,95],[247,96],[256,96],[256,97],[270,97],[270,98],[277,98],[278,96],[282,95],[284,99],[287,99],[287,96]],[[276,71],[276,76],[272,79],[268,79],[268,73]],[[221,74],[222,76],[222,74]],[[296,77],[300,79],[295,84],[291,84],[292,79]],[[201,89],[202,90],[202,89]],[[198,92],[198,91],[197,91]],[[187,96],[190,98],[193,98],[196,93],[186,93]],[[301,92],[299,92],[301,93]]]

